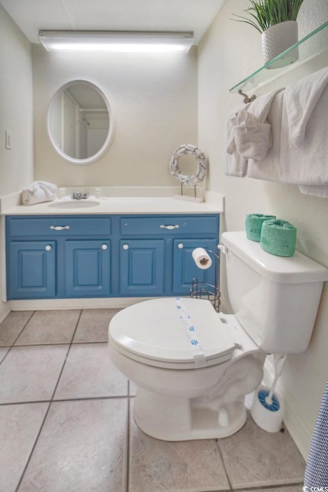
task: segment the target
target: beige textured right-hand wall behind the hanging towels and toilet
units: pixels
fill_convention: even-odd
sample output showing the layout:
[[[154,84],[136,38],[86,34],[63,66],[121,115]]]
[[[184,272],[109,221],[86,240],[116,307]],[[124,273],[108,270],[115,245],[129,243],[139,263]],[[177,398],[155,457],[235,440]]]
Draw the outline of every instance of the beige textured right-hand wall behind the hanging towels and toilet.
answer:
[[[259,33],[245,24],[228,20],[231,12],[241,13],[248,5],[247,0],[227,0],[198,48],[198,145],[209,155],[209,189],[226,196],[221,231],[244,229],[247,213],[275,214],[297,227],[297,249],[328,267],[328,199],[302,195],[296,186],[228,177],[223,172],[226,115],[242,104],[239,95],[229,94],[229,88],[262,61]],[[310,32],[327,19],[325,0],[305,0],[299,14],[300,31]],[[302,70],[304,75],[310,68]],[[295,76],[291,72],[288,79],[278,80],[262,92],[284,86]],[[221,290],[222,297],[227,299],[224,276]],[[311,345],[305,354],[288,358],[280,384],[286,401],[285,422],[304,457],[328,375],[327,325],[328,289],[325,287]]]

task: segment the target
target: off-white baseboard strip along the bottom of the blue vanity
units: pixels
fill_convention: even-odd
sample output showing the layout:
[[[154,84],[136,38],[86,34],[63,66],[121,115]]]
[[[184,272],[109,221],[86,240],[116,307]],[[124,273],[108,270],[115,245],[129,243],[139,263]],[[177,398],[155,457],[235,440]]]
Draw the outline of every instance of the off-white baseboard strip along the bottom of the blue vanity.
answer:
[[[28,299],[10,301],[12,311],[44,311],[51,309],[101,309],[127,308],[137,302],[147,301],[152,297],[110,297],[90,299]]]

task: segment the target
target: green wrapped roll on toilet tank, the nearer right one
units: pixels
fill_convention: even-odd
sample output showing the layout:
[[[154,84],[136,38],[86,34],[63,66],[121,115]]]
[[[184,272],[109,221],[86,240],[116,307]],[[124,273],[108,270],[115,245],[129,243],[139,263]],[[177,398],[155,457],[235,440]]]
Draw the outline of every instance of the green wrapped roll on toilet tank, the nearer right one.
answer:
[[[276,256],[293,256],[296,245],[296,227],[282,219],[263,222],[261,248]]]

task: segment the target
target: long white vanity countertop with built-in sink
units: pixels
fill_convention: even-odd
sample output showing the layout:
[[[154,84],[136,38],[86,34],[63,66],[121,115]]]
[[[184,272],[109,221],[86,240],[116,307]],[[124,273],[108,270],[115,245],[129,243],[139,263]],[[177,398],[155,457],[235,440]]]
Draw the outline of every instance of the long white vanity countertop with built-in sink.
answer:
[[[18,205],[6,207],[2,210],[2,215],[62,215],[62,214],[218,214],[222,213],[222,207],[203,202],[180,200],[175,198],[157,197],[102,197],[89,200],[97,200],[99,204],[93,207],[86,207],[88,200],[83,200],[84,207],[56,207],[57,203],[63,200],[36,203],[34,205]],[[76,203],[77,200],[70,200]],[[78,205],[78,203],[77,203]]]

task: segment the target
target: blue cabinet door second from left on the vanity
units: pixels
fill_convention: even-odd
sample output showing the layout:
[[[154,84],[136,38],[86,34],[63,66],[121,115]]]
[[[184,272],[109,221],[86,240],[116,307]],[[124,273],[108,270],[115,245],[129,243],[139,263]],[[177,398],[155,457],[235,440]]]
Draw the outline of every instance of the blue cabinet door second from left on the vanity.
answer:
[[[106,297],[110,294],[110,241],[65,241],[67,297]]]

